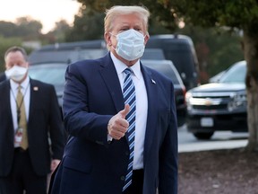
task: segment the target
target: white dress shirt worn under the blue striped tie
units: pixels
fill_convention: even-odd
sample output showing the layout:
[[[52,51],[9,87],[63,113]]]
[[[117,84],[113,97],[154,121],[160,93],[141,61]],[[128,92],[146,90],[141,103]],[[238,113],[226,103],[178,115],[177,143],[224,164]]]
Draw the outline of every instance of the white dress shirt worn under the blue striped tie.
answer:
[[[116,67],[116,73],[119,78],[121,89],[123,91],[123,84],[125,80],[124,70],[126,66],[122,61],[118,60],[112,53],[111,58]],[[133,84],[136,93],[136,119],[135,119],[135,137],[134,137],[134,155],[133,155],[133,170],[143,168],[143,150],[144,139],[147,122],[148,111],[148,97],[146,92],[145,83],[142,76],[140,60],[136,64],[130,66],[133,71]]]

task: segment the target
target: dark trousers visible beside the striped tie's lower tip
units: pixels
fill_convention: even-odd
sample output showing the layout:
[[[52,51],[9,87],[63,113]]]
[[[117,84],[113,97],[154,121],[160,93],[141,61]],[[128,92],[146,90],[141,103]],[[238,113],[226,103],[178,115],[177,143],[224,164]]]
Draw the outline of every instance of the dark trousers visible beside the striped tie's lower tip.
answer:
[[[123,194],[142,194],[143,188],[143,170],[134,170],[132,184],[123,192]]]

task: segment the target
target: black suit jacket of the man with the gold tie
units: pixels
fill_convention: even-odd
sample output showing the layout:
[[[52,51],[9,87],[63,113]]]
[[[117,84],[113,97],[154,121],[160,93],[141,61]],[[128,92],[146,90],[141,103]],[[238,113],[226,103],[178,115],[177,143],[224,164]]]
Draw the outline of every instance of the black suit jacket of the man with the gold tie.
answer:
[[[0,177],[11,172],[13,163],[14,130],[10,88],[10,80],[0,84]],[[64,123],[53,85],[30,79],[27,131],[33,169],[38,175],[47,175],[50,172],[51,158],[62,159],[65,144]],[[48,134],[51,146],[48,143]]]

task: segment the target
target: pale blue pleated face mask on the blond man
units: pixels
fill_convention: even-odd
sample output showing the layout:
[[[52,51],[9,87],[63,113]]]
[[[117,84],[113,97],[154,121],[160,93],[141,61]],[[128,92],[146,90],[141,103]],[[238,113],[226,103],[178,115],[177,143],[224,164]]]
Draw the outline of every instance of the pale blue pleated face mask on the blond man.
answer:
[[[116,36],[117,40],[117,45],[114,49],[116,49],[118,56],[128,61],[142,57],[145,48],[142,33],[130,29],[114,36]]]

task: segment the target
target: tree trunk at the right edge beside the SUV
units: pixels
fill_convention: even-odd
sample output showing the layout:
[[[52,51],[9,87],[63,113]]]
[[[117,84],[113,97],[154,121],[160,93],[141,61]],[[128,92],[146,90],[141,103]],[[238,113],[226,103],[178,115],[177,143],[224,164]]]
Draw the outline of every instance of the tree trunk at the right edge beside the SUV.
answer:
[[[258,37],[244,31],[247,95],[248,151],[258,151]]]

